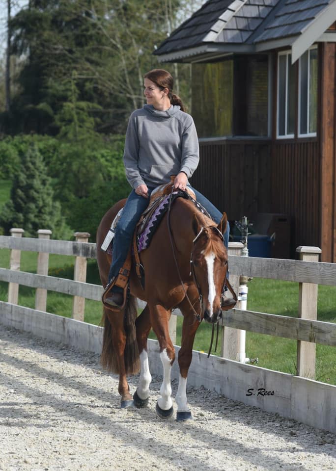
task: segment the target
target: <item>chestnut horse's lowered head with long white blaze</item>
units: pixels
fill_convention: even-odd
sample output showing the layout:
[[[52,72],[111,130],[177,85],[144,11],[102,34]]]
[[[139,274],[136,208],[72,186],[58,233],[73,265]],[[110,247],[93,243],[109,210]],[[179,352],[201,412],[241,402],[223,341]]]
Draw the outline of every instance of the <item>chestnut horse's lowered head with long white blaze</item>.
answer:
[[[207,322],[218,322],[222,317],[221,297],[227,272],[227,251],[223,243],[227,217],[220,224],[203,225],[194,218],[195,238],[192,250],[194,281],[202,297],[202,315]]]

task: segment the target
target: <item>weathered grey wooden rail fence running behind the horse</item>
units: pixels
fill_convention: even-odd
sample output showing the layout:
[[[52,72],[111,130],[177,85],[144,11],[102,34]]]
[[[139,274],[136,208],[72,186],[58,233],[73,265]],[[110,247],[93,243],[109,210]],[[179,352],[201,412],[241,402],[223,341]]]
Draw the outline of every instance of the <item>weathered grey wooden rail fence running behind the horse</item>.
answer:
[[[84,319],[85,298],[101,300],[103,288],[85,283],[86,260],[96,258],[96,245],[87,242],[87,233],[76,233],[76,241],[70,242],[51,240],[50,231],[39,231],[38,238],[22,237],[23,232],[13,229],[12,236],[0,236],[0,248],[11,250],[10,268],[0,268],[0,281],[9,284],[8,302],[0,301],[0,322],[100,352],[102,329],[78,322]],[[241,246],[229,243],[233,287],[238,291],[241,276],[297,282],[298,317],[244,311],[238,303],[236,309],[224,313],[221,357],[207,360],[206,355],[194,352],[189,383],[335,433],[336,386],[313,378],[315,344],[336,346],[336,324],[317,320],[317,286],[336,286],[336,264],[318,262],[321,251],[316,247],[299,247],[300,260],[294,261],[241,257]],[[36,274],[20,271],[21,251],[38,253]],[[48,276],[50,253],[76,257],[75,280]],[[35,310],[17,306],[19,285],[36,288]],[[48,290],[74,296],[73,319],[45,312]],[[172,319],[170,332],[174,336],[176,316]],[[239,363],[240,329],[297,340],[297,375]],[[150,365],[153,372],[160,373],[159,358],[154,355],[157,349],[157,342],[149,340]],[[174,375],[178,377],[176,365]],[[270,394],[264,396],[259,390]]]

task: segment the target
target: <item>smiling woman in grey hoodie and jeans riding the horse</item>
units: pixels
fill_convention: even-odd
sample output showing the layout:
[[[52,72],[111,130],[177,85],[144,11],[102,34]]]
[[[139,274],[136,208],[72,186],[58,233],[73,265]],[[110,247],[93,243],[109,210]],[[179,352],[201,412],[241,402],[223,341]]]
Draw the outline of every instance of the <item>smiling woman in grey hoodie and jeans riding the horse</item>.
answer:
[[[133,111],[125,140],[124,165],[132,191],[118,221],[112,248],[109,284],[117,277],[132,243],[135,227],[149,204],[154,188],[170,182],[185,190],[199,161],[198,138],[193,118],[185,112],[181,99],[172,93],[173,78],[163,69],[154,69],[144,76],[144,96],[147,104]],[[219,224],[222,213],[201,193],[192,188],[196,200]],[[227,248],[229,225],[224,234]],[[109,285],[107,287],[109,289]],[[105,302],[113,307],[123,304],[123,290],[113,286]],[[235,304],[224,298],[225,305]]]

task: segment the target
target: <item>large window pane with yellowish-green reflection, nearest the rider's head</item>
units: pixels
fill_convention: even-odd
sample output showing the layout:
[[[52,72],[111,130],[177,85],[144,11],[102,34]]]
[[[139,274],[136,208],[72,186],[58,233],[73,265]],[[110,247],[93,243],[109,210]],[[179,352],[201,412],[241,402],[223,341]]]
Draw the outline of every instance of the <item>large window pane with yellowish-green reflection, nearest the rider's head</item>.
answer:
[[[232,135],[233,61],[192,65],[192,115],[198,137]]]

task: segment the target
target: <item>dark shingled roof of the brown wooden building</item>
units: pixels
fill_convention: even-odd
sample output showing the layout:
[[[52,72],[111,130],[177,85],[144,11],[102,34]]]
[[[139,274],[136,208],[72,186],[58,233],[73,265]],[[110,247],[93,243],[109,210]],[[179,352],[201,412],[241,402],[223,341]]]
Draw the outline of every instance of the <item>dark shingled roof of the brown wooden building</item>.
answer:
[[[335,20],[336,0],[208,0],[154,54],[192,62],[290,45],[296,60]]]

